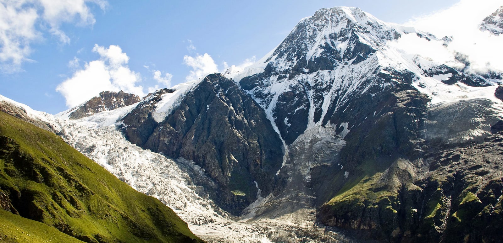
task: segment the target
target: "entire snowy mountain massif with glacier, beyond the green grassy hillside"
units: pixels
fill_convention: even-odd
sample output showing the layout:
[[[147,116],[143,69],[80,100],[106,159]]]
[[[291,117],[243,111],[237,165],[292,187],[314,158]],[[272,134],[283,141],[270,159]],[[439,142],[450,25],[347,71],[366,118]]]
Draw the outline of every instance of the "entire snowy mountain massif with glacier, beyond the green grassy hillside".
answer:
[[[255,64],[131,105],[69,120],[75,108],[53,117],[0,99],[210,242],[351,241],[328,226],[490,241],[503,225],[501,75],[408,48],[449,41],[321,9]]]

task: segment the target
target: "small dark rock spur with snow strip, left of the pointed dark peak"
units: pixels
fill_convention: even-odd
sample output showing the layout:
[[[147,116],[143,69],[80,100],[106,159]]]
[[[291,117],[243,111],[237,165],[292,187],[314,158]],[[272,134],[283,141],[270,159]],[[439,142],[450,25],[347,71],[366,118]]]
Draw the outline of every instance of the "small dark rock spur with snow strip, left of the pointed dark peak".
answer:
[[[155,104],[161,100],[165,93],[173,93],[173,89],[159,89],[148,94],[131,112],[124,116],[123,121],[126,128],[122,131],[129,142],[142,147],[157,127],[157,121],[152,116]]]

